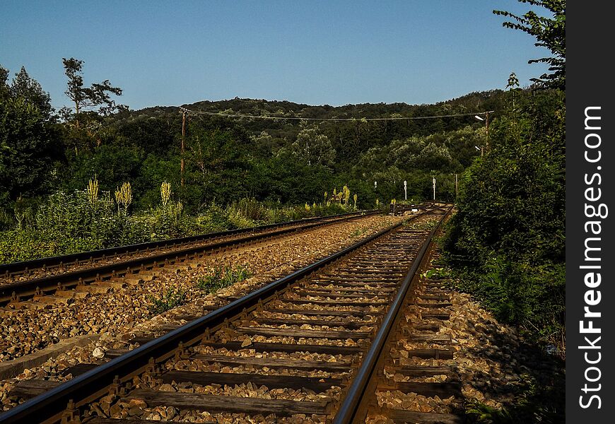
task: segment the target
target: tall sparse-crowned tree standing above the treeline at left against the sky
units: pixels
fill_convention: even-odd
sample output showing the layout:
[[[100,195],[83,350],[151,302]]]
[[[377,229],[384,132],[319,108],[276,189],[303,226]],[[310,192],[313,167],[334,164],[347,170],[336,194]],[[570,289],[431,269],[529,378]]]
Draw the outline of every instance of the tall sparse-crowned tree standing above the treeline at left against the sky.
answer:
[[[102,83],[92,83],[90,87],[83,86],[83,61],[79,59],[62,58],[64,73],[69,78],[66,91],[64,92],[74,103],[75,126],[79,127],[79,116],[84,110],[93,110],[98,107],[100,114],[111,114],[117,110],[125,109],[124,105],[117,105],[111,95],[122,95],[122,88],[114,87],[109,80]],[[65,117],[70,117],[70,110],[63,109]]]

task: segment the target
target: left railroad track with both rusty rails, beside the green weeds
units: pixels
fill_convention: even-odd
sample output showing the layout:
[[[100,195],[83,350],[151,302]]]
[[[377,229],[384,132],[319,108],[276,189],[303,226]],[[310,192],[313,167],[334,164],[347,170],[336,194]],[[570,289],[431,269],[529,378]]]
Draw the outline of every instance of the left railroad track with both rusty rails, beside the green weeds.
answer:
[[[178,271],[182,269],[182,263],[198,259],[207,254],[252,245],[256,242],[271,240],[274,237],[283,237],[293,232],[355,220],[376,213],[379,212],[350,213],[336,218],[308,220],[305,223],[286,223],[281,226],[267,225],[266,227],[247,230],[233,230],[166,242],[146,243],[66,257],[8,264],[0,266],[0,272],[4,270],[5,277],[19,275],[18,270],[21,270],[23,275],[27,269],[33,275],[43,274],[44,276],[0,284],[0,305],[11,303],[19,307],[23,303],[22,301],[27,299],[33,299],[38,304],[45,305],[45,303],[57,302],[59,298],[65,301],[74,298],[78,295],[76,292],[79,291],[102,293],[105,290],[110,290],[110,288],[121,287],[127,282],[136,284],[143,279],[149,279],[156,271]],[[130,259],[120,258],[118,260],[117,252],[122,251],[124,251],[124,255],[131,256]],[[115,252],[115,254],[111,255],[112,252]],[[145,252],[147,252],[147,256],[144,256]],[[85,259],[86,257],[89,259]],[[66,271],[69,260],[72,261],[71,266],[76,267],[76,269]],[[34,270],[32,268],[34,265],[39,266],[39,268]],[[47,269],[52,269],[52,275],[45,275]],[[33,307],[35,305],[30,303],[23,304],[23,306]]]

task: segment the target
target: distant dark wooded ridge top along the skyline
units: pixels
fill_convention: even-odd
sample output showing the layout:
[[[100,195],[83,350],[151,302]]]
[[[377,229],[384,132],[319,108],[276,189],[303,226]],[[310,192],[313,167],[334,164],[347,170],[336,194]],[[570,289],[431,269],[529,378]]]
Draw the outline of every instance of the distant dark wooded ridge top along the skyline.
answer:
[[[240,129],[247,136],[256,139],[266,137],[266,146],[260,143],[254,155],[275,154],[280,148],[288,147],[295,141],[300,129],[305,126],[317,127],[322,134],[327,135],[337,152],[338,158],[358,160],[369,148],[386,146],[391,141],[408,139],[413,136],[430,136],[445,131],[457,131],[466,126],[480,127],[482,124],[471,115],[463,117],[442,117],[435,119],[400,119],[394,121],[361,122],[361,118],[379,117],[425,117],[450,114],[464,114],[505,109],[505,101],[509,93],[502,90],[491,90],[480,93],[470,93],[460,98],[438,102],[433,105],[408,105],[406,103],[363,103],[360,105],[305,105],[286,100],[203,100],[182,107],[194,112],[212,112],[223,114],[245,114],[267,117],[303,117],[312,119],[356,119],[351,122],[331,121],[300,121],[292,119],[250,119],[238,117],[209,116],[189,114],[191,124],[206,125],[221,129]],[[179,106],[156,106],[142,110],[125,112],[115,117],[115,124],[124,127],[131,133],[135,125],[142,131],[145,121],[155,119],[158,126],[163,124],[173,128],[175,134],[180,131],[181,113]],[[170,133],[168,133],[170,134]],[[170,141],[169,141],[170,142]]]

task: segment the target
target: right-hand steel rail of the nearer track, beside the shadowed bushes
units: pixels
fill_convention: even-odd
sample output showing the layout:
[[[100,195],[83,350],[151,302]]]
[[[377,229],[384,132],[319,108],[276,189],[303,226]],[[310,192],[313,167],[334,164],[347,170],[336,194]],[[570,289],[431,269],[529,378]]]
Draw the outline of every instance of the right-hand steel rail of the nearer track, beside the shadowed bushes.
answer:
[[[389,307],[389,311],[385,315],[385,318],[382,319],[380,323],[380,327],[376,333],[376,336],[373,339],[373,342],[370,346],[368,353],[365,353],[363,357],[363,362],[361,363],[361,367],[356,372],[352,379],[352,383],[350,387],[348,387],[348,391],[346,391],[346,396],[344,396],[344,400],[339,407],[339,410],[336,413],[336,416],[333,420],[333,424],[349,424],[353,423],[353,420],[356,418],[361,420],[361,417],[356,417],[356,413],[358,409],[361,407],[361,399],[363,399],[363,394],[365,393],[365,389],[367,389],[370,379],[372,378],[375,367],[382,354],[382,351],[385,348],[387,339],[393,329],[394,323],[397,320],[397,315],[399,311],[402,309],[404,305],[404,301],[406,299],[406,295],[411,287],[412,281],[414,280],[414,276],[421,266],[421,262],[423,261],[423,257],[425,256],[428,247],[433,240],[433,236],[435,232],[438,231],[440,225],[443,223],[446,216],[450,213],[452,208],[448,208],[448,211],[440,218],[438,221],[438,225],[431,230],[429,233],[427,240],[423,243],[423,246],[418,251],[416,255],[416,259],[414,259],[414,263],[412,264],[410,270],[406,274],[402,285],[393,300],[391,307]]]

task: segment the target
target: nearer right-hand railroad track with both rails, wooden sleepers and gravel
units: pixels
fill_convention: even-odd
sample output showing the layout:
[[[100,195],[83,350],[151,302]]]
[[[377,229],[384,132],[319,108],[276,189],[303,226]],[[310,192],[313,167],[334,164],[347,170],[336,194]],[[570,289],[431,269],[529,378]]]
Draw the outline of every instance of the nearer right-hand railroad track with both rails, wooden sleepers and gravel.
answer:
[[[382,356],[436,229],[394,225],[103,365],[81,365],[58,387],[40,384],[43,394],[0,423],[351,422],[348,399],[361,401],[362,376]]]

